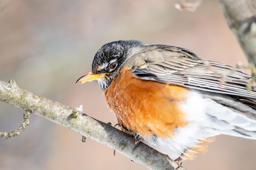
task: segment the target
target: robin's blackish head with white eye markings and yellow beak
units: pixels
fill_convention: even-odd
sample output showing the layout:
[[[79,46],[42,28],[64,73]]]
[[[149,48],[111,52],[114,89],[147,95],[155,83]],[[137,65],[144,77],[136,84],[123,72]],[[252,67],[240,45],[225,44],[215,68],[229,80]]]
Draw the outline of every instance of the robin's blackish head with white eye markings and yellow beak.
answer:
[[[128,57],[146,46],[137,40],[119,40],[103,45],[92,61],[92,72],[82,76],[76,83],[97,79],[102,90],[108,88]]]

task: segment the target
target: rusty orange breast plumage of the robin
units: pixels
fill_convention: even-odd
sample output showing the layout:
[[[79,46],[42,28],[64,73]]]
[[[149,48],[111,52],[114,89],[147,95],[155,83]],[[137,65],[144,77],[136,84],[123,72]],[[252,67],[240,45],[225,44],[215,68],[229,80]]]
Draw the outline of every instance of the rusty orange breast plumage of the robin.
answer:
[[[137,79],[124,69],[104,95],[119,124],[142,136],[172,137],[175,128],[187,123],[179,105],[189,90],[181,86]]]

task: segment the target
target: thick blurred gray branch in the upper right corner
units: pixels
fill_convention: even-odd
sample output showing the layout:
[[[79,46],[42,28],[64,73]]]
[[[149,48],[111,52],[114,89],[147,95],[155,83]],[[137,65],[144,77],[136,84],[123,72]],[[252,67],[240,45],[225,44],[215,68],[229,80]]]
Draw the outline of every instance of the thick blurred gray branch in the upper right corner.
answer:
[[[248,62],[256,66],[256,7],[253,0],[219,0],[219,3]]]

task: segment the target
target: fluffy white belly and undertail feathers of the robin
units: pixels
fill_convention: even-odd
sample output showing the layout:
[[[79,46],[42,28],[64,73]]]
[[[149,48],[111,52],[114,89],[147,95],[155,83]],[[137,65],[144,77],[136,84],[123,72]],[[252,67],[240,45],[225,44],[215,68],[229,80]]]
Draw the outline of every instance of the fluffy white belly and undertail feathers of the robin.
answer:
[[[180,157],[181,154],[186,158],[193,159],[195,156],[191,153],[197,153],[195,150],[205,149],[200,148],[205,146],[202,145],[203,141],[216,135],[225,134],[256,139],[254,132],[256,131],[256,121],[254,119],[236,113],[211,99],[204,99],[196,92],[191,92],[191,96],[181,104],[181,107],[189,115],[189,123],[184,128],[175,129],[172,138],[163,139],[156,135],[153,135],[153,138],[141,136],[145,144],[168,155],[173,160]],[[242,128],[245,134],[235,131],[237,128]]]

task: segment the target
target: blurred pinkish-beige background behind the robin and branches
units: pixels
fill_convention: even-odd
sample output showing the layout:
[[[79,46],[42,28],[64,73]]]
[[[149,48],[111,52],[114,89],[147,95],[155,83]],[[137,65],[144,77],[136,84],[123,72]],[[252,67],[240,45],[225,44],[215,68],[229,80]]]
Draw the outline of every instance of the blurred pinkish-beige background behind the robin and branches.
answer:
[[[2,3],[2,4],[1,4]],[[191,49],[201,58],[235,66],[247,62],[217,1],[195,12],[178,0],[2,0],[0,79],[104,122],[117,121],[97,82],[76,85],[105,43],[136,39]],[[18,128],[23,110],[0,102],[0,131]],[[68,128],[31,115],[18,137],[0,138],[0,170],[146,170],[120,153]],[[218,136],[209,151],[184,162],[188,170],[255,169],[256,141]]]

